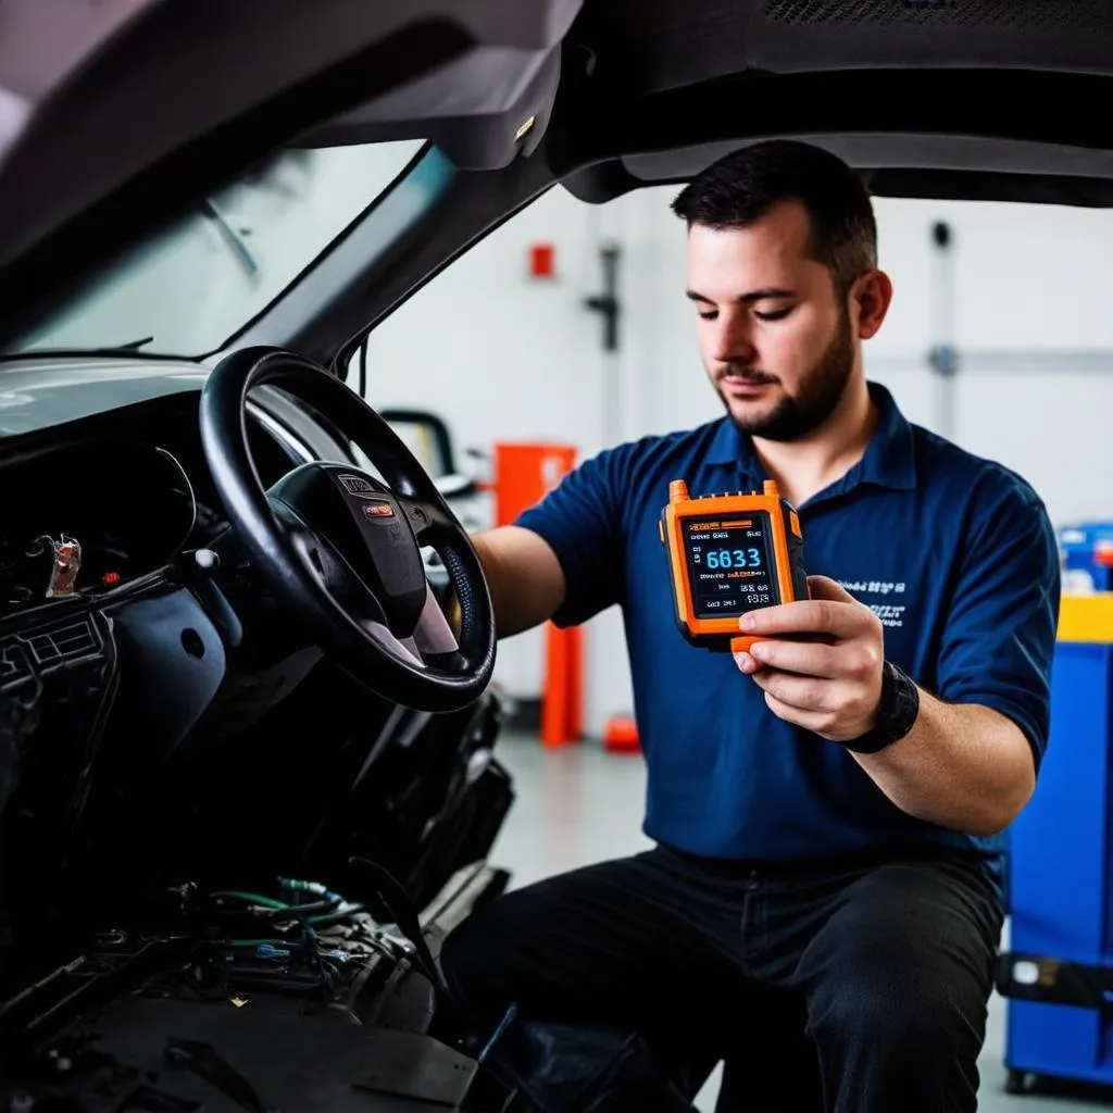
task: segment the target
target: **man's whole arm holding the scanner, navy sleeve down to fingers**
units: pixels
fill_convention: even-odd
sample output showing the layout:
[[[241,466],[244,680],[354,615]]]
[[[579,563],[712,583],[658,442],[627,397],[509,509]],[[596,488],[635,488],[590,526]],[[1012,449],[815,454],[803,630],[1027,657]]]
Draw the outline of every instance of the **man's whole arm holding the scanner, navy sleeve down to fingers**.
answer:
[[[972,835],[995,834],[1032,795],[1051,721],[1061,585],[1046,509],[1015,476],[986,471],[963,538],[933,692],[918,691],[910,731],[855,760],[904,811]],[[739,668],[772,711],[835,742],[877,721],[884,627],[834,580],[811,600],[756,611],[743,630],[774,640]],[[780,634],[796,634],[789,640]]]

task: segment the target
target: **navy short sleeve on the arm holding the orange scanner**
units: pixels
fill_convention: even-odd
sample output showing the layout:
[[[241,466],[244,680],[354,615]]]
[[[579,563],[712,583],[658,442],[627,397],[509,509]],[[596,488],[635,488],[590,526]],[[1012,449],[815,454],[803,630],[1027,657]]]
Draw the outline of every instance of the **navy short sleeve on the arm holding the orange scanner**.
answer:
[[[1018,477],[979,501],[946,618],[938,696],[1012,719],[1038,768],[1051,723],[1058,545],[1043,503]]]

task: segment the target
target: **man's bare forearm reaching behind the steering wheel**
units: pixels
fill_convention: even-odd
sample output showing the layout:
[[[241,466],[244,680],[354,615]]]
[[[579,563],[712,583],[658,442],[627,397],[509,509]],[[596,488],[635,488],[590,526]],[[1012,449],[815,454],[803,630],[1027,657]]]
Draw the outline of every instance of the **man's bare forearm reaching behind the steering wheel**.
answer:
[[[564,602],[564,572],[549,543],[532,530],[503,525],[472,538],[486,577],[500,638],[548,621]]]

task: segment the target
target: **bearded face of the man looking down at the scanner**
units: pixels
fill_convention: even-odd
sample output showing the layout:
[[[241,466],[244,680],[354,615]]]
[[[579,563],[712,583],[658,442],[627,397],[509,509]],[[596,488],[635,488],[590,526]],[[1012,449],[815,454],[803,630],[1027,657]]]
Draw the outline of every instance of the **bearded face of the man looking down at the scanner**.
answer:
[[[838,405],[856,347],[831,274],[807,256],[809,218],[785,201],[748,228],[688,236],[688,296],[699,348],[735,424],[796,440]]]

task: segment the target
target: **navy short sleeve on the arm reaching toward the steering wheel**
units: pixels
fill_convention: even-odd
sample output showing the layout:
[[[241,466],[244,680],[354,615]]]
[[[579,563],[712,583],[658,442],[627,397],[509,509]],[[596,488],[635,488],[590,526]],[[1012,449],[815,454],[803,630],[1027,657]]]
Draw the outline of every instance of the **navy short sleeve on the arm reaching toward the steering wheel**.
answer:
[[[626,584],[623,495],[630,446],[600,453],[569,472],[515,525],[546,541],[564,572],[564,602],[553,615],[577,626],[622,601]]]

